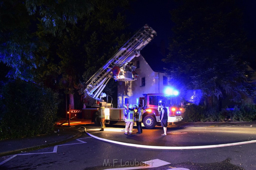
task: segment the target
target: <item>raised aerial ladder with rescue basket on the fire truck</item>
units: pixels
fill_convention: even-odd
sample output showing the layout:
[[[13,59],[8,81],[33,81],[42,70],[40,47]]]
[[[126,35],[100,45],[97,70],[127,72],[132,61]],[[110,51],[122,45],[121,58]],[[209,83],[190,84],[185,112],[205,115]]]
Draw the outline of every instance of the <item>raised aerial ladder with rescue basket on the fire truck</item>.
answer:
[[[129,62],[140,56],[142,50],[156,36],[156,32],[147,24],[138,30],[91,78],[85,83],[83,89],[84,106],[102,106],[106,104],[102,97],[106,97],[102,90],[113,77],[119,81],[134,81],[137,79],[135,66]]]

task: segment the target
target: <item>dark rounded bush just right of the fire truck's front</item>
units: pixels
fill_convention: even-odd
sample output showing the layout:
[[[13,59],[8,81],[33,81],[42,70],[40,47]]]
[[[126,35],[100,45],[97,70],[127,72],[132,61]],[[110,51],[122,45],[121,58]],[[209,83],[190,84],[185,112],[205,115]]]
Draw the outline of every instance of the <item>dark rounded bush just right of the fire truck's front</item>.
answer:
[[[205,109],[202,106],[189,103],[185,106],[184,119],[186,122],[197,122],[201,120],[201,115],[204,114]]]

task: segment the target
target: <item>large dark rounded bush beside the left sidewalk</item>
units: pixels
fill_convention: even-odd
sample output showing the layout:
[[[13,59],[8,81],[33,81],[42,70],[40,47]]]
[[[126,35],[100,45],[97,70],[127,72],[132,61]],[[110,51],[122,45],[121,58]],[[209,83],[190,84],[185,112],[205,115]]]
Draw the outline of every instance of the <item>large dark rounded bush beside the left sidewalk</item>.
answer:
[[[57,114],[57,94],[38,84],[1,83],[0,139],[49,134]]]

